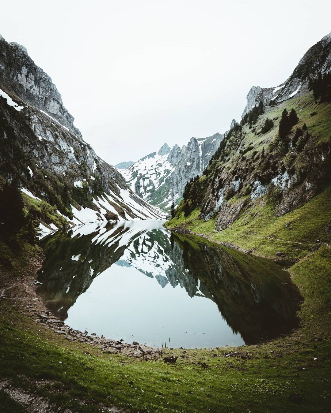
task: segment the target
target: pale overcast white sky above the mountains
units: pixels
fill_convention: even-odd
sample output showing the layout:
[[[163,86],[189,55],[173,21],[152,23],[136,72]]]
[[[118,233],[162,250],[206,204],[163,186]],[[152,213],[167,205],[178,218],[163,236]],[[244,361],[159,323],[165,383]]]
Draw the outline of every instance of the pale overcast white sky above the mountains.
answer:
[[[240,120],[252,85],[283,83],[331,31],[315,0],[2,1],[0,33],[52,78],[110,164]]]

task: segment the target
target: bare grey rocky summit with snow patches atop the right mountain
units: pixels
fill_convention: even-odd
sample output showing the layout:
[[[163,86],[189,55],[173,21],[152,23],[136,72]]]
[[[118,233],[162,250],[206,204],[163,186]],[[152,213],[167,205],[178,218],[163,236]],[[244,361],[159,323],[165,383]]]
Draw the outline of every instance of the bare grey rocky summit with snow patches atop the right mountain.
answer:
[[[266,104],[270,100],[282,102],[297,93],[307,92],[309,79],[316,78],[319,73],[331,70],[331,32],[305,53],[291,76],[276,88],[260,88],[252,86],[247,95],[247,105],[242,116],[247,114],[260,100]]]

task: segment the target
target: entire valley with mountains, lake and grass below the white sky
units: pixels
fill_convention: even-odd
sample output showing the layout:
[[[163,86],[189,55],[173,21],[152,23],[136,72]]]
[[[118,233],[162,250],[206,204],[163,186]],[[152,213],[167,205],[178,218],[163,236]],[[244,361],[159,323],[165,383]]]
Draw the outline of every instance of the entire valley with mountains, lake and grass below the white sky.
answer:
[[[330,73],[113,167],[0,36],[0,412],[329,411]]]

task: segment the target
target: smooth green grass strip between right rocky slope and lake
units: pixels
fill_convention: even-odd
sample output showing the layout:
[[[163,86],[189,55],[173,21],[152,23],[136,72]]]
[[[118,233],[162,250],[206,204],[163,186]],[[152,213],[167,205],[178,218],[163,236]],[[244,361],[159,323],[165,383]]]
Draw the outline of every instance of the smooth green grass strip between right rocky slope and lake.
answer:
[[[273,214],[271,204],[258,199],[245,209],[228,228],[218,232],[215,219],[199,219],[199,209],[184,217],[181,214],[165,226],[188,228],[192,233],[204,235],[214,242],[233,244],[253,254],[276,258],[276,252],[284,252],[286,259],[300,259],[316,244],[328,223],[331,211],[331,187],[311,199],[299,209],[281,217]],[[291,222],[288,227],[285,224]]]

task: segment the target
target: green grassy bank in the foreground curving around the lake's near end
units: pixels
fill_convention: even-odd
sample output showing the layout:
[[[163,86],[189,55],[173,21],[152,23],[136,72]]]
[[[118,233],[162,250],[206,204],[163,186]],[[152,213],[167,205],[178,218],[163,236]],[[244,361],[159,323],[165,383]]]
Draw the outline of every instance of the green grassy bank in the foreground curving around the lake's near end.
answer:
[[[325,322],[331,297],[328,261],[331,249],[324,246],[290,269],[305,298],[302,328],[271,343],[234,349],[240,357],[226,358],[229,348],[167,349],[187,356],[169,365],[103,354],[36,325],[17,311],[16,303],[7,302],[0,326],[1,375],[50,398],[57,407],[79,412],[98,411],[100,401],[132,411],[326,412],[331,368],[326,357],[330,323]],[[197,364],[202,362],[208,367]],[[30,380],[41,379],[54,382],[38,389],[31,385]]]

